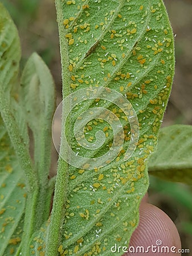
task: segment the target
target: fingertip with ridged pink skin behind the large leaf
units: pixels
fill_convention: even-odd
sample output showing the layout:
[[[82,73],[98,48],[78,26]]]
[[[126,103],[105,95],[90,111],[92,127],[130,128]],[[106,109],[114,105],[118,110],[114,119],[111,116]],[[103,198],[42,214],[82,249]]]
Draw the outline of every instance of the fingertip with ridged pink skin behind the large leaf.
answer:
[[[124,256],[141,256],[144,254],[148,256],[176,255],[176,253],[170,251],[171,248],[173,249],[173,246],[176,247],[176,249],[173,249],[175,251],[181,249],[181,240],[176,226],[168,215],[161,209],[155,207],[155,205],[146,203],[146,200],[147,196],[145,196],[140,205],[140,222],[131,237],[129,248],[132,249],[132,253],[126,253]],[[157,243],[162,243],[162,245],[158,246]],[[149,249],[148,253],[143,253],[143,251],[137,253],[133,252],[133,247],[143,246],[144,249],[147,250],[147,247],[152,245],[157,247],[156,252],[153,252],[151,249]],[[165,248],[165,251],[162,246],[168,246],[169,253],[168,247]],[[160,252],[158,252],[158,247]],[[155,248],[153,250],[155,250]],[[161,250],[163,250],[162,253]],[[177,253],[177,255],[181,256],[181,253]]]

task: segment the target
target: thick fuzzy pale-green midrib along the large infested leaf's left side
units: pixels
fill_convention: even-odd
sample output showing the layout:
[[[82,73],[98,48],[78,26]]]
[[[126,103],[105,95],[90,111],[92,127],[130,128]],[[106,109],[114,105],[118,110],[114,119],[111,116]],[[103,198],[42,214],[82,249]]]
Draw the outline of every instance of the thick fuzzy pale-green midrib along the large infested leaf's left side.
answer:
[[[56,0],[57,22],[59,26],[59,38],[60,38],[60,54],[61,54],[61,66],[62,66],[62,96],[66,97],[70,94],[70,76],[69,76],[69,57],[68,57],[68,42],[65,37],[65,28],[63,26],[64,16],[62,13],[62,2]],[[66,106],[67,105],[67,106]],[[65,105],[65,109],[69,108],[69,104]],[[67,110],[66,110],[67,111]],[[64,124],[62,124],[64,127]],[[69,137],[69,123],[65,123],[65,129],[68,131],[66,137]],[[61,147],[60,154],[68,156],[68,151],[65,150],[65,145],[62,143],[61,132]],[[65,158],[66,159],[66,158]],[[64,206],[67,199],[67,185],[68,185],[68,163],[66,163],[61,157],[59,158],[57,168],[57,179],[55,185],[55,195],[53,198],[53,208],[51,213],[51,222],[48,230],[46,256],[55,256],[58,252],[58,246],[60,242],[60,233],[62,228],[62,221],[64,216]]]

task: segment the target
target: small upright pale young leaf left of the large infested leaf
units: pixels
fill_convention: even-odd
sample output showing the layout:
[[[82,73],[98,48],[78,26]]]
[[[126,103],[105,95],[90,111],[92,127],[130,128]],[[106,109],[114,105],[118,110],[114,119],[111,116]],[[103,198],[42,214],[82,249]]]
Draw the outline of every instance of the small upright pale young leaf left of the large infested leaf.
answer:
[[[55,111],[55,84],[52,75],[37,53],[24,68],[19,92],[23,115],[31,128],[34,141],[35,167],[40,182],[47,182],[51,162],[51,124]]]

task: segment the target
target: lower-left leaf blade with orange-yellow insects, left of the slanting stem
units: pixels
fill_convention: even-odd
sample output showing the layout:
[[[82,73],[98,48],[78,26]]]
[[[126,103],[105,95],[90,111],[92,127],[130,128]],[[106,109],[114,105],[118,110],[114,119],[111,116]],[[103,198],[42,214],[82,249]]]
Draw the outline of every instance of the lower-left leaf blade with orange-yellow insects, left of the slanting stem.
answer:
[[[15,255],[23,232],[26,189],[23,171],[0,118],[0,255]]]

